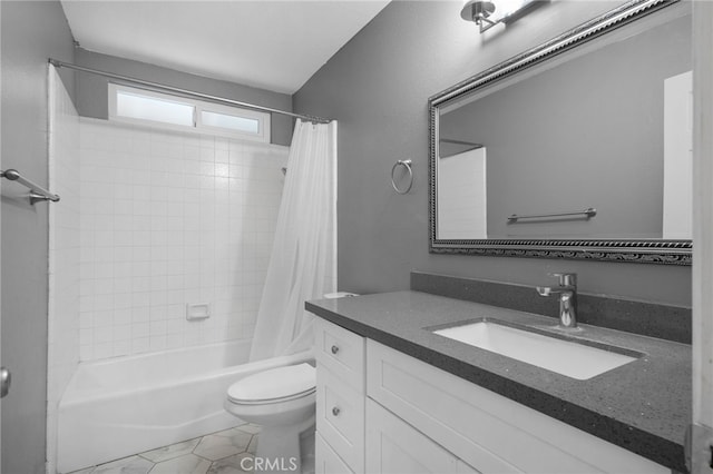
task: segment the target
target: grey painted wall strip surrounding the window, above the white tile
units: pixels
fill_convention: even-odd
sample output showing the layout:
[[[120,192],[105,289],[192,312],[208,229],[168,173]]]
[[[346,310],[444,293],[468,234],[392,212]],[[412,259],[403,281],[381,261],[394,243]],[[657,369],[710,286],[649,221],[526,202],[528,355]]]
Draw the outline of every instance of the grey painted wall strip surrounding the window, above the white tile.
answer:
[[[116,75],[128,76],[165,86],[177,87],[212,96],[225,97],[242,102],[273,109],[292,111],[292,97],[265,89],[209,79],[187,72],[167,69],[146,62],[77,49],[77,65]],[[226,59],[228,60],[228,59]],[[77,109],[82,117],[106,119],[108,115],[107,83],[109,79],[90,73],[77,75]],[[271,141],[290,146],[293,120],[282,115],[272,115]]]

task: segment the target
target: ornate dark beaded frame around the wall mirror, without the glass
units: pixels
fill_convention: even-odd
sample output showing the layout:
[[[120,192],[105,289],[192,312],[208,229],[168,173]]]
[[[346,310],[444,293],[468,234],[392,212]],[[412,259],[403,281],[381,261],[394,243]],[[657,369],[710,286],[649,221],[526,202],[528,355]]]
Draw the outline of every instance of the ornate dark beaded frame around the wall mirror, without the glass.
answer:
[[[522,71],[680,0],[633,0],[543,45],[515,56],[429,98],[429,251],[500,257],[567,258],[691,265],[692,241],[667,239],[439,239],[437,159],[439,107]]]

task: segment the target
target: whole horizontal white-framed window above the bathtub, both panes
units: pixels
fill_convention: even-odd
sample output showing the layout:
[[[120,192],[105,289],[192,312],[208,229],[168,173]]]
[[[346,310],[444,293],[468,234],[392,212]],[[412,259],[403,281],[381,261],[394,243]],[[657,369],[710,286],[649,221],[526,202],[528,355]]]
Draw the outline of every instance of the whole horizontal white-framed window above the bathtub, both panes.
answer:
[[[109,119],[270,142],[270,113],[109,83]]]

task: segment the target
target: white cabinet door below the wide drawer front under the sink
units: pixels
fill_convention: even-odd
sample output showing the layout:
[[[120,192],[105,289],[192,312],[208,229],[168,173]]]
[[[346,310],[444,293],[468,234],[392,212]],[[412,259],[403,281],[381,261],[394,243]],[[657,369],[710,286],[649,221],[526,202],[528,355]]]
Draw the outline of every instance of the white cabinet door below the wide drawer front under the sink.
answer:
[[[456,456],[367,398],[367,472],[447,474],[459,472],[459,466]]]

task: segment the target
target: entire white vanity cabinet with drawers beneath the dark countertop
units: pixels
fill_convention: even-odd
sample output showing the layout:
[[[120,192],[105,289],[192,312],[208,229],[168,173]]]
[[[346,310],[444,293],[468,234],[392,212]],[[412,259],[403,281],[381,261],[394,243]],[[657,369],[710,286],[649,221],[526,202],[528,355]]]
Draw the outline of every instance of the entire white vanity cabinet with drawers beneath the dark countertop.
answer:
[[[336,365],[329,346],[333,340],[349,344],[350,357],[343,354],[351,361],[349,368]],[[352,372],[359,366],[358,348],[361,376]],[[349,421],[338,422],[333,407],[340,408],[339,416],[350,412]],[[318,448],[318,472],[329,472],[320,468],[330,455],[354,473],[671,472],[324,320],[318,330],[316,423],[326,445],[322,452]]]

